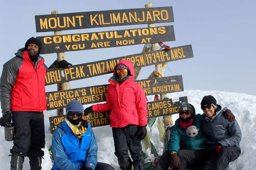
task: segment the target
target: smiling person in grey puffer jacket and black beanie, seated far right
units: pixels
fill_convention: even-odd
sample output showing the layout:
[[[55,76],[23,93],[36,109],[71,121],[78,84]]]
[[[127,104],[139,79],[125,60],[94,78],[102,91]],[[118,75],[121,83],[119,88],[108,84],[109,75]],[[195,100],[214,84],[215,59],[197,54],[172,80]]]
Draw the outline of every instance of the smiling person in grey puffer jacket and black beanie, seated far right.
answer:
[[[241,129],[235,120],[228,122],[213,96],[204,96],[201,109],[205,116],[202,122],[203,133],[207,138],[208,161],[204,170],[225,170],[229,162],[236,160],[240,153]]]

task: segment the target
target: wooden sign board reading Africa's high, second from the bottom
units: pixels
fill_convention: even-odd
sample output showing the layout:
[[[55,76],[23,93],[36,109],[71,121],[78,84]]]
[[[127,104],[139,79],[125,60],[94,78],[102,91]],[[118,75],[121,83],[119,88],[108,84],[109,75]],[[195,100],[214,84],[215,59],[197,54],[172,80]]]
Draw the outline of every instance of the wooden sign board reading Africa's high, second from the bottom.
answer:
[[[170,76],[136,80],[145,95],[156,95],[184,91],[182,76]],[[108,84],[46,93],[47,110],[64,108],[71,100],[83,105],[106,101]]]

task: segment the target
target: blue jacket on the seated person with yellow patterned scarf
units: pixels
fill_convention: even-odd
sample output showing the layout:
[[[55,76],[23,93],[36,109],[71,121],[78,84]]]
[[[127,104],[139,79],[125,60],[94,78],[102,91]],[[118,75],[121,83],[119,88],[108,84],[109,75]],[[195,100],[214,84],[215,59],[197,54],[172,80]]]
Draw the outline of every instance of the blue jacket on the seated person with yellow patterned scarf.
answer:
[[[79,170],[97,165],[98,146],[89,123],[86,133],[82,133],[81,142],[64,121],[54,130],[52,148],[54,170]]]

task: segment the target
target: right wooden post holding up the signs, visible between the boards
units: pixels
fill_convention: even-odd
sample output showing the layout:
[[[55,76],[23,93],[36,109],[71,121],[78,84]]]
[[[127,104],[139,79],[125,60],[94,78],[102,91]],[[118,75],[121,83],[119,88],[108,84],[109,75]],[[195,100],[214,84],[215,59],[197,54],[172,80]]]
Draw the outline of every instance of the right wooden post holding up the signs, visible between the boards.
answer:
[[[152,8],[152,3],[150,2],[150,3],[145,4],[145,7]],[[148,27],[149,28],[155,27],[155,24],[148,24]],[[152,43],[152,49],[153,49],[153,51],[157,50],[158,43]],[[159,72],[159,74],[160,74],[159,77],[164,76],[162,64],[155,65],[155,69]],[[167,97],[167,94],[160,94],[161,99],[164,99],[165,97]],[[172,116],[171,115],[164,116],[164,125],[168,126],[169,124],[172,125]]]

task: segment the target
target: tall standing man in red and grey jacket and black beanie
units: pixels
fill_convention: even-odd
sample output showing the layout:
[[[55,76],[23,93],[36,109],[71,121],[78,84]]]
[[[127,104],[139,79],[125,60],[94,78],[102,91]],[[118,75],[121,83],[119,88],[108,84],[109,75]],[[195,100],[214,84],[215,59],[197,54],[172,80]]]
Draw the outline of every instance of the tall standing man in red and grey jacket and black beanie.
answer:
[[[29,157],[31,170],[41,169],[44,155],[45,75],[47,66],[41,57],[39,39],[31,37],[3,65],[0,79],[0,100],[3,116],[0,125],[12,122],[15,127],[14,146],[10,150],[11,170],[21,170],[24,156]],[[55,61],[49,68],[68,68],[65,60]]]

